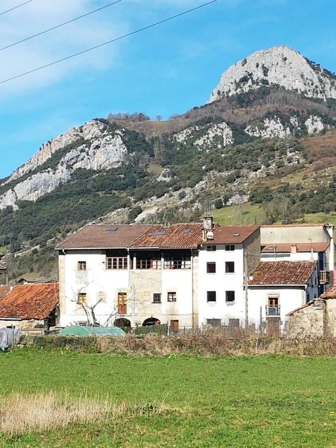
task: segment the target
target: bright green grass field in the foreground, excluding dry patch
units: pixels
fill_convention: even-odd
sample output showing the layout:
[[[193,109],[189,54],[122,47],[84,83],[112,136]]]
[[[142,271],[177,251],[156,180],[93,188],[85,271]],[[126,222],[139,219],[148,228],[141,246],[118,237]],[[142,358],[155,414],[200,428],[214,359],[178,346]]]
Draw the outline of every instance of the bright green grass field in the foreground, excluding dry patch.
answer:
[[[125,357],[49,350],[0,356],[1,395],[110,396],[164,412],[0,435],[1,447],[335,447],[334,358]],[[334,379],[333,379],[334,378]],[[15,412],[15,409],[13,409]],[[1,421],[1,413],[0,413]]]

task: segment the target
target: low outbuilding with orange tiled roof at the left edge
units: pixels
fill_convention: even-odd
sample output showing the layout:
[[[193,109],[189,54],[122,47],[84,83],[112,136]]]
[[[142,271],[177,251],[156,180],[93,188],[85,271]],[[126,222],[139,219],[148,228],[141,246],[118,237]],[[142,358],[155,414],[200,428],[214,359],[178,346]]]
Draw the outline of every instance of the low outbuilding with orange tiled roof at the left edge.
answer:
[[[49,329],[58,321],[58,283],[19,285],[0,301],[0,328]]]

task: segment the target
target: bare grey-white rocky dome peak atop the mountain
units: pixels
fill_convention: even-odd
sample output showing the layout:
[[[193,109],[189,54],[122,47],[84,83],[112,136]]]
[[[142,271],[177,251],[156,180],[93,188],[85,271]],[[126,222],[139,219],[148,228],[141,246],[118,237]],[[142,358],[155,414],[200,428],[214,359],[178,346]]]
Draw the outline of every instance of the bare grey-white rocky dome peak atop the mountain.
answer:
[[[226,70],[208,103],[223,97],[280,86],[309,98],[336,99],[336,75],[287,46],[251,54]]]

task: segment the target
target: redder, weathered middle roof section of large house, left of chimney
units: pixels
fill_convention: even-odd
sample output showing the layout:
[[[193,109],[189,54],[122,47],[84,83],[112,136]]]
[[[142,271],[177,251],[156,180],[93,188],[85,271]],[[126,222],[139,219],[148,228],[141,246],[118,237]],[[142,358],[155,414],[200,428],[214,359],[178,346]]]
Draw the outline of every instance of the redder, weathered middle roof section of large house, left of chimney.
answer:
[[[156,225],[134,241],[132,247],[197,248],[201,241],[202,224]]]

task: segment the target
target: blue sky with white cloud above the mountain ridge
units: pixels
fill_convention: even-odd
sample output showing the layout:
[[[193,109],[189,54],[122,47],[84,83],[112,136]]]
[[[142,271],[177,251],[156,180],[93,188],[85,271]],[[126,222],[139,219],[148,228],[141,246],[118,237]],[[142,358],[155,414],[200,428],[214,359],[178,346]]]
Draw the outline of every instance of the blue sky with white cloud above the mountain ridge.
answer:
[[[0,46],[111,0],[33,0],[0,15]],[[123,0],[0,52],[0,80],[110,40],[202,0]],[[19,0],[2,0],[0,12]],[[152,118],[204,104],[230,65],[289,45],[336,72],[333,0],[218,0],[86,55],[0,85],[0,178],[47,140],[109,112]]]

